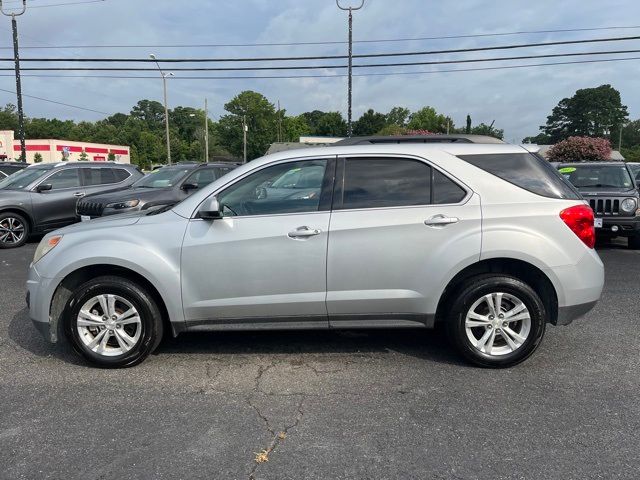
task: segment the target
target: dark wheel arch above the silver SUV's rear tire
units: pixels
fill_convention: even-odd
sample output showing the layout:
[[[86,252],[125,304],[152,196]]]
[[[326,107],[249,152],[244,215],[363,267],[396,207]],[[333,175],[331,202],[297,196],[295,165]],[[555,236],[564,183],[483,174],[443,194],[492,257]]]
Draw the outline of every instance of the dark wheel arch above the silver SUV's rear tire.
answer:
[[[549,322],[558,321],[558,294],[551,279],[538,267],[515,258],[490,258],[467,266],[447,284],[436,308],[436,323],[443,322],[458,288],[469,278],[481,274],[496,273],[516,277],[531,286],[538,294],[549,314]]]

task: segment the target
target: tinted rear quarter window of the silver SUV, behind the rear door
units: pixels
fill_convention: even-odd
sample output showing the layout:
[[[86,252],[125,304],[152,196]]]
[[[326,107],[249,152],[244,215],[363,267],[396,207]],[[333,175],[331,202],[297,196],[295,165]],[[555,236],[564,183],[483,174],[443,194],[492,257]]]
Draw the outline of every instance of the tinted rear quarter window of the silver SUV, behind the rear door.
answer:
[[[458,155],[458,158],[537,195],[581,199],[575,188],[549,162],[528,152]]]

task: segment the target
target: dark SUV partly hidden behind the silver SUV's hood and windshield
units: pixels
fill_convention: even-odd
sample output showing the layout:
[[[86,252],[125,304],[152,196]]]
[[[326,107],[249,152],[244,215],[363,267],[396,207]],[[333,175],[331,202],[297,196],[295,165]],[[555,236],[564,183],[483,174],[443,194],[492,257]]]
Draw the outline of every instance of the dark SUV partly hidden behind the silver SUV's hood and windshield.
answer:
[[[236,163],[197,162],[167,165],[148,173],[126,190],[87,195],[78,201],[77,213],[82,220],[89,220],[106,215],[172,206],[237,166]]]

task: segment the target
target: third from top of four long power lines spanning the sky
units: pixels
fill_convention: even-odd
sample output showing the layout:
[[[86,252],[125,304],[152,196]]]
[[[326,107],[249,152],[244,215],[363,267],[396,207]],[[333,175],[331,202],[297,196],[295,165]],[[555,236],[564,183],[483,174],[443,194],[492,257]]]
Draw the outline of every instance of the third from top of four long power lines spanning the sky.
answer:
[[[470,58],[461,60],[432,60],[418,62],[395,62],[395,63],[368,63],[356,64],[353,68],[377,68],[377,67],[403,67],[417,65],[454,65],[459,63],[483,63],[483,62],[503,62],[512,60],[533,60],[538,58],[561,58],[561,57],[581,57],[590,55],[619,55],[638,53],[640,49],[633,50],[604,50],[596,52],[570,52],[570,53],[548,53],[542,55],[518,55],[510,57],[493,58]],[[267,67],[177,67],[172,68],[176,72],[234,72],[234,71],[265,71],[265,70],[326,70],[342,69],[347,65],[277,65]],[[0,71],[11,70],[8,67],[0,67]],[[155,72],[155,68],[145,67],[27,67],[22,71],[47,72],[47,71],[68,71],[68,72]]]

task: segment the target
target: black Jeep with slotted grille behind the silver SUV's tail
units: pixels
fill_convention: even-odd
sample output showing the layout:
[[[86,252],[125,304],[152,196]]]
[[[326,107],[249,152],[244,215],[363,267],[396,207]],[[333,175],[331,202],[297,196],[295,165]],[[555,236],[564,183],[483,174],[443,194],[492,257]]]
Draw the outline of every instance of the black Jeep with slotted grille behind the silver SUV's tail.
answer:
[[[598,237],[627,237],[629,248],[640,249],[640,195],[625,162],[560,163],[557,168],[591,205]]]

